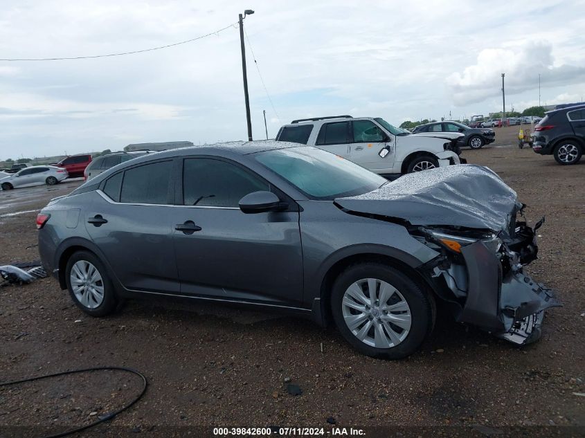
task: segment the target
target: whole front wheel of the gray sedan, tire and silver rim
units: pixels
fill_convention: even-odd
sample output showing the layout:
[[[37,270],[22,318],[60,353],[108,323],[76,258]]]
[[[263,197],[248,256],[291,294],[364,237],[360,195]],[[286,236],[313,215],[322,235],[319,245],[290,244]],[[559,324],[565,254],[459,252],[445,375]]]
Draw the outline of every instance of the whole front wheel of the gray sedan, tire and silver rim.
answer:
[[[336,326],[355,349],[399,359],[415,352],[433,328],[431,300],[404,273],[365,262],[337,277],[331,306]]]

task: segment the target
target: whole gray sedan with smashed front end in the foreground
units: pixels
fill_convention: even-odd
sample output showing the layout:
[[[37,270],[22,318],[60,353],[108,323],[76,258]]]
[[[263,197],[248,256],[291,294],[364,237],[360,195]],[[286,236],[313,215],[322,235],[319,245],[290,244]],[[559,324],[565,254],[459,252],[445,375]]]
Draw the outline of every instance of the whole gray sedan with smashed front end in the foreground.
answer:
[[[437,300],[513,343],[539,338],[559,302],[523,272],[538,248],[522,217],[485,167],[388,182],[266,140],[121,163],[49,202],[37,228],[45,271],[90,316],[123,298],[247,304],[332,320],[359,352],[402,358],[430,333]]]

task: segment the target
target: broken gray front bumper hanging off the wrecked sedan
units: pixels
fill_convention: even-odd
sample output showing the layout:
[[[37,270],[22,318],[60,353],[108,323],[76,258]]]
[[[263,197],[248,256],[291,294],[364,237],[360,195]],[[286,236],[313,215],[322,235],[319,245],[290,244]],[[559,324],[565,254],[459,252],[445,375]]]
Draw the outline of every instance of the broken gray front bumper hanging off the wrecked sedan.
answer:
[[[500,260],[482,241],[462,247],[461,253],[469,285],[458,320],[519,345],[538,340],[544,311],[562,305],[552,289],[521,271],[503,276]]]

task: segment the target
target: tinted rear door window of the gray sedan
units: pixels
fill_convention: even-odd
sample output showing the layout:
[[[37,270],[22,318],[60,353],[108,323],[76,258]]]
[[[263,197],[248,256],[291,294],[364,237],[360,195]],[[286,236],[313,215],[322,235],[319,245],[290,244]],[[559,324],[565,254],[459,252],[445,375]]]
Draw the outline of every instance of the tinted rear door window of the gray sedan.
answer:
[[[127,170],[124,172],[120,202],[168,203],[171,172],[172,161],[161,161]]]

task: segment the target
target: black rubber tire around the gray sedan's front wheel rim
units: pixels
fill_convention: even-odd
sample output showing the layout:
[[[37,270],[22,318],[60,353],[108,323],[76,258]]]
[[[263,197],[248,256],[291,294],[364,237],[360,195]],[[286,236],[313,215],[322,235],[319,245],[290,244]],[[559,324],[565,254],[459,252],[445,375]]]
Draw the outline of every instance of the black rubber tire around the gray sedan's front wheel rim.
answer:
[[[411,327],[402,342],[389,348],[377,348],[359,340],[343,317],[343,297],[354,282],[375,278],[395,287],[411,313]],[[381,262],[353,264],[336,278],[331,293],[333,319],[345,340],[362,354],[381,359],[400,359],[413,354],[431,333],[434,325],[433,298],[420,289],[408,275]],[[373,329],[372,329],[373,330]],[[369,331],[368,331],[369,333]]]

